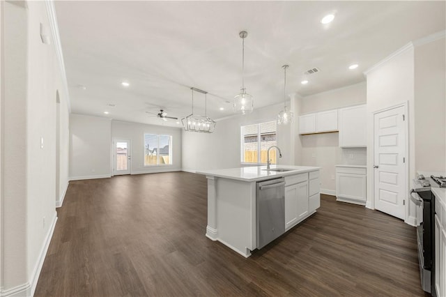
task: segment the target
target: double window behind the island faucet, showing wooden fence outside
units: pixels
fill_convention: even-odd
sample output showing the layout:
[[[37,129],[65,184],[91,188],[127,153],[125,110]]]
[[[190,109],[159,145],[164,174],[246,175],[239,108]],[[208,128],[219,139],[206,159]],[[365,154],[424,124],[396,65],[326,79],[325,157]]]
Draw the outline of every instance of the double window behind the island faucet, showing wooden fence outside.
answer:
[[[241,161],[266,164],[268,148],[277,146],[276,122],[243,125],[241,135]],[[271,164],[276,164],[275,149],[270,150],[270,160]]]

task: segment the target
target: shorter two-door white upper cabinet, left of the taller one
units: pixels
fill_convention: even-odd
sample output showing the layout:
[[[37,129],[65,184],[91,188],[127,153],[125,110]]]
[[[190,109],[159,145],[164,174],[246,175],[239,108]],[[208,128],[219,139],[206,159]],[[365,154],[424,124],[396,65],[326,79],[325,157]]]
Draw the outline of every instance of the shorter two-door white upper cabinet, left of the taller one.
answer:
[[[299,134],[334,132],[337,130],[337,109],[299,116]]]

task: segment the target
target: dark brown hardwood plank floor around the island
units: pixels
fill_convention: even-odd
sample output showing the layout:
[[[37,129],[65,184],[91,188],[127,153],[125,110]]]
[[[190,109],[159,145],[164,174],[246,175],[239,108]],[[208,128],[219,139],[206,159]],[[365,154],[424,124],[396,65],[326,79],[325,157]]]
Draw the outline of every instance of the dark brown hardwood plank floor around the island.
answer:
[[[415,228],[322,195],[245,259],[206,238],[206,178],[72,181],[35,296],[424,296]]]

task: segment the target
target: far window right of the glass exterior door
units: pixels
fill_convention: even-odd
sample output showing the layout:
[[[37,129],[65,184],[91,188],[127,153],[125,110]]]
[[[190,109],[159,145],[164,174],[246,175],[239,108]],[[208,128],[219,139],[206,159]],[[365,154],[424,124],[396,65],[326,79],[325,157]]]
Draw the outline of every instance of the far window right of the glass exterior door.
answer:
[[[172,136],[144,134],[144,166],[172,164]]]

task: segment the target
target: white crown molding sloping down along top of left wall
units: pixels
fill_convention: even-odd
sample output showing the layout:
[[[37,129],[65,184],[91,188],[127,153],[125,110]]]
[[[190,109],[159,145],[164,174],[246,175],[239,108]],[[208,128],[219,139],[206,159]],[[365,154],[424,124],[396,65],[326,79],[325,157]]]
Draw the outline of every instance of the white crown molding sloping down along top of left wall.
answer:
[[[54,42],[54,49],[56,50],[57,61],[59,62],[59,68],[61,71],[61,78],[63,89],[65,89],[65,96],[67,99],[68,112],[71,112],[70,93],[68,93],[68,82],[65,70],[65,63],[63,63],[63,52],[61,45],[61,38],[59,36],[59,26],[57,25],[56,10],[54,8],[53,0],[45,0],[45,6],[47,8],[47,15],[49,20],[49,27],[51,28],[52,38]]]

